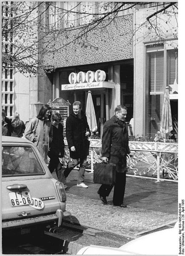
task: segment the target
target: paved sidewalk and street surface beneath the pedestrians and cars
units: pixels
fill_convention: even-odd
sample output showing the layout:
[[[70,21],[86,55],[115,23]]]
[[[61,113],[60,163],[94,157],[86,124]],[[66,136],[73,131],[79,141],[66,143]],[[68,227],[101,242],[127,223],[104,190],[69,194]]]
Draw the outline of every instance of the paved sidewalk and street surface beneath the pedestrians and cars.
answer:
[[[56,174],[53,176],[56,178]],[[95,244],[120,247],[139,236],[173,227],[177,221],[177,183],[127,177],[122,209],[103,205],[97,194],[100,184],[93,183],[93,174],[85,172],[88,189],[77,188],[77,170],[67,178],[66,209],[71,216],[55,233],[45,231],[39,239],[24,236],[11,246],[3,244],[5,254],[76,254],[81,247]]]

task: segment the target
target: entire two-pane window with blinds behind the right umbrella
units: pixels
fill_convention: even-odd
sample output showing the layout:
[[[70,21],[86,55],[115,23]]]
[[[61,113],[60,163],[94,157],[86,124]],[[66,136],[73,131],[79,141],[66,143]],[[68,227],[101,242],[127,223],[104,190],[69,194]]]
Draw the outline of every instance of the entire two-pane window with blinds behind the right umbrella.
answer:
[[[146,52],[145,134],[154,138],[160,131],[165,86],[169,86],[171,94],[174,93],[173,98],[170,94],[172,119],[177,115],[178,50],[166,50],[166,57],[162,45],[148,46]]]

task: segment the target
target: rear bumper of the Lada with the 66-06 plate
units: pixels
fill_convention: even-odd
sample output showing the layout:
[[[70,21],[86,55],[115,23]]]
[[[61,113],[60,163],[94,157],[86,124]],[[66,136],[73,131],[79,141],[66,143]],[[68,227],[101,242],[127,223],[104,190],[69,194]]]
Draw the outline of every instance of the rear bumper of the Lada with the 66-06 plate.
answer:
[[[19,228],[19,227],[27,227],[35,224],[45,224],[49,222],[58,222],[58,227],[62,224],[64,218],[70,216],[71,213],[68,211],[62,211],[61,209],[57,209],[56,213],[48,214],[43,216],[37,216],[33,218],[25,218],[25,219],[17,219],[12,221],[3,221],[2,228],[4,230]]]

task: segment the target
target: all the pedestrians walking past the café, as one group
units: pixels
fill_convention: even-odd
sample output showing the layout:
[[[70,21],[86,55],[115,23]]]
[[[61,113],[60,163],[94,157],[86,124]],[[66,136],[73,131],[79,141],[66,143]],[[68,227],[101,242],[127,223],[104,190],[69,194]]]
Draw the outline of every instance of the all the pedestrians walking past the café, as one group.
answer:
[[[114,185],[102,184],[98,190],[100,200],[107,204],[107,197],[114,186],[113,204],[118,207],[127,207],[123,204],[126,183],[126,155],[130,154],[128,146],[128,129],[125,122],[127,108],[118,105],[115,108],[114,116],[105,122],[102,134],[101,160],[104,163],[116,165],[116,182]],[[60,113],[51,115],[51,107],[43,105],[37,117],[31,119],[25,126],[20,120],[19,113],[14,113],[11,121],[6,116],[6,111],[2,109],[2,135],[13,137],[24,137],[32,141],[40,151],[50,172],[56,171],[58,179],[63,182],[67,189],[66,178],[70,172],[79,166],[77,187],[88,188],[84,183],[85,166],[89,154],[90,142],[88,137],[91,131],[87,122],[87,117],[82,111],[80,101],[73,103],[73,111],[66,119],[66,139],[68,142],[70,162],[66,168],[61,163],[64,162],[64,137],[62,117]]]

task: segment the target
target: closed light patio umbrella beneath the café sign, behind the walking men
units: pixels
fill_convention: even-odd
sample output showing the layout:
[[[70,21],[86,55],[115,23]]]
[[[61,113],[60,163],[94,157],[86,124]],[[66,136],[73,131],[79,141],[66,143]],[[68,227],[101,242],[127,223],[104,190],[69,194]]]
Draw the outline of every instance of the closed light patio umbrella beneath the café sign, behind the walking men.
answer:
[[[91,132],[97,131],[97,119],[94,111],[91,91],[88,91],[87,105],[86,105],[87,122]]]

